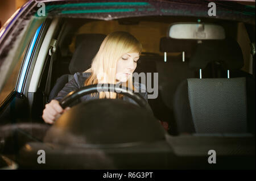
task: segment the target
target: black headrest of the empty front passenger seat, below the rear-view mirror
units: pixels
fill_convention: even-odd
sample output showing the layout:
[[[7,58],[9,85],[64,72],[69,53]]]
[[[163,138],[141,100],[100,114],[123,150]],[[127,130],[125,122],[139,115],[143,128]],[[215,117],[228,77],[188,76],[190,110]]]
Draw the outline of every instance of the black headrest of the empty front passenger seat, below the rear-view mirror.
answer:
[[[236,40],[205,40],[197,44],[189,60],[189,67],[204,69],[209,62],[218,62],[224,69],[236,70],[243,67],[243,54]]]

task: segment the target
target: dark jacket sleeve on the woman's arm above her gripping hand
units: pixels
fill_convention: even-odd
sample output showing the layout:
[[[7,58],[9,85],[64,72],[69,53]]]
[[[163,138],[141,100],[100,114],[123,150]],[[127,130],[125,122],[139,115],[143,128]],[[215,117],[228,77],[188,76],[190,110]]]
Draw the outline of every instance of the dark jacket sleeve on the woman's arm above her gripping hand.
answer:
[[[78,90],[79,84],[78,84],[77,80],[78,80],[77,73],[75,73],[73,79],[65,84],[63,89],[61,91],[59,91],[59,93],[57,94],[57,96],[54,99],[58,100],[60,102],[60,100],[63,99],[64,96],[66,96],[69,92]]]

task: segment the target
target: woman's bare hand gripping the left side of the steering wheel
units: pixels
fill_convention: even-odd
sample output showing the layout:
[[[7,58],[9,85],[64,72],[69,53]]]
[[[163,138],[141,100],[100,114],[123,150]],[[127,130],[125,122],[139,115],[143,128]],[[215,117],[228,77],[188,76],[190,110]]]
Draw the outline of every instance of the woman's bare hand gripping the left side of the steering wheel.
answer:
[[[43,120],[48,124],[53,124],[55,120],[65,111],[68,111],[70,107],[63,108],[60,106],[59,101],[52,100],[50,103],[46,104],[46,108],[43,111]]]

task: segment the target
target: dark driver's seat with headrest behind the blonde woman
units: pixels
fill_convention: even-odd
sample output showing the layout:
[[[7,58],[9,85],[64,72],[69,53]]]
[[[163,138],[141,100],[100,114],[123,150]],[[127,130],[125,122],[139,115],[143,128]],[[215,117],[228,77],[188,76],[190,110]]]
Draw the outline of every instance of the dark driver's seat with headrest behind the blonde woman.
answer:
[[[98,33],[80,34],[76,37],[76,49],[69,64],[69,72],[71,74],[61,75],[57,79],[55,86],[53,86],[49,94],[49,102],[57,96],[66,83],[73,79],[75,73],[90,68],[92,59],[98,52],[98,49],[100,49],[100,45],[105,37],[106,35]]]

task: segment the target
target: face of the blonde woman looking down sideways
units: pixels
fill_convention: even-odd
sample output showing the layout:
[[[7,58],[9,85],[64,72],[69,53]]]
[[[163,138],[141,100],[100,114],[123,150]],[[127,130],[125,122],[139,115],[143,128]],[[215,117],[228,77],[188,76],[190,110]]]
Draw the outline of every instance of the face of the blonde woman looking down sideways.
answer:
[[[117,70],[115,79],[120,82],[126,82],[133,71],[136,69],[139,53],[126,53],[117,61]]]

